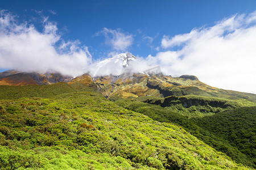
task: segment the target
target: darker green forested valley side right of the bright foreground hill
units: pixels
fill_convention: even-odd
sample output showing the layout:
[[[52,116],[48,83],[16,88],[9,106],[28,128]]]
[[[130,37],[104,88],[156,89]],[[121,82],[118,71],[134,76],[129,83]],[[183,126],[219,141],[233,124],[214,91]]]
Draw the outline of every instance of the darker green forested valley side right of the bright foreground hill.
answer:
[[[115,103],[131,111],[143,113],[154,120],[172,122],[183,126],[192,135],[216,148],[216,150],[224,152],[236,162],[256,168],[256,109],[255,107],[242,107],[254,105],[250,101],[239,103],[238,101],[226,99],[205,98],[207,100],[203,104],[185,108],[180,100],[173,100],[170,107],[161,107],[160,105],[148,104],[155,103],[155,101],[150,99],[151,97],[146,98],[138,99],[141,101],[120,99]],[[191,100],[192,102],[195,98],[196,96],[189,96],[186,100],[193,99]],[[202,97],[197,98],[202,99]],[[156,101],[158,100],[156,99]],[[218,104],[222,101],[224,105],[229,106],[224,108],[222,107],[223,105],[216,105],[216,107],[212,107],[209,104],[205,105],[209,101],[216,100],[218,100]],[[143,103],[142,101],[148,103]],[[234,106],[242,108],[232,109]]]

